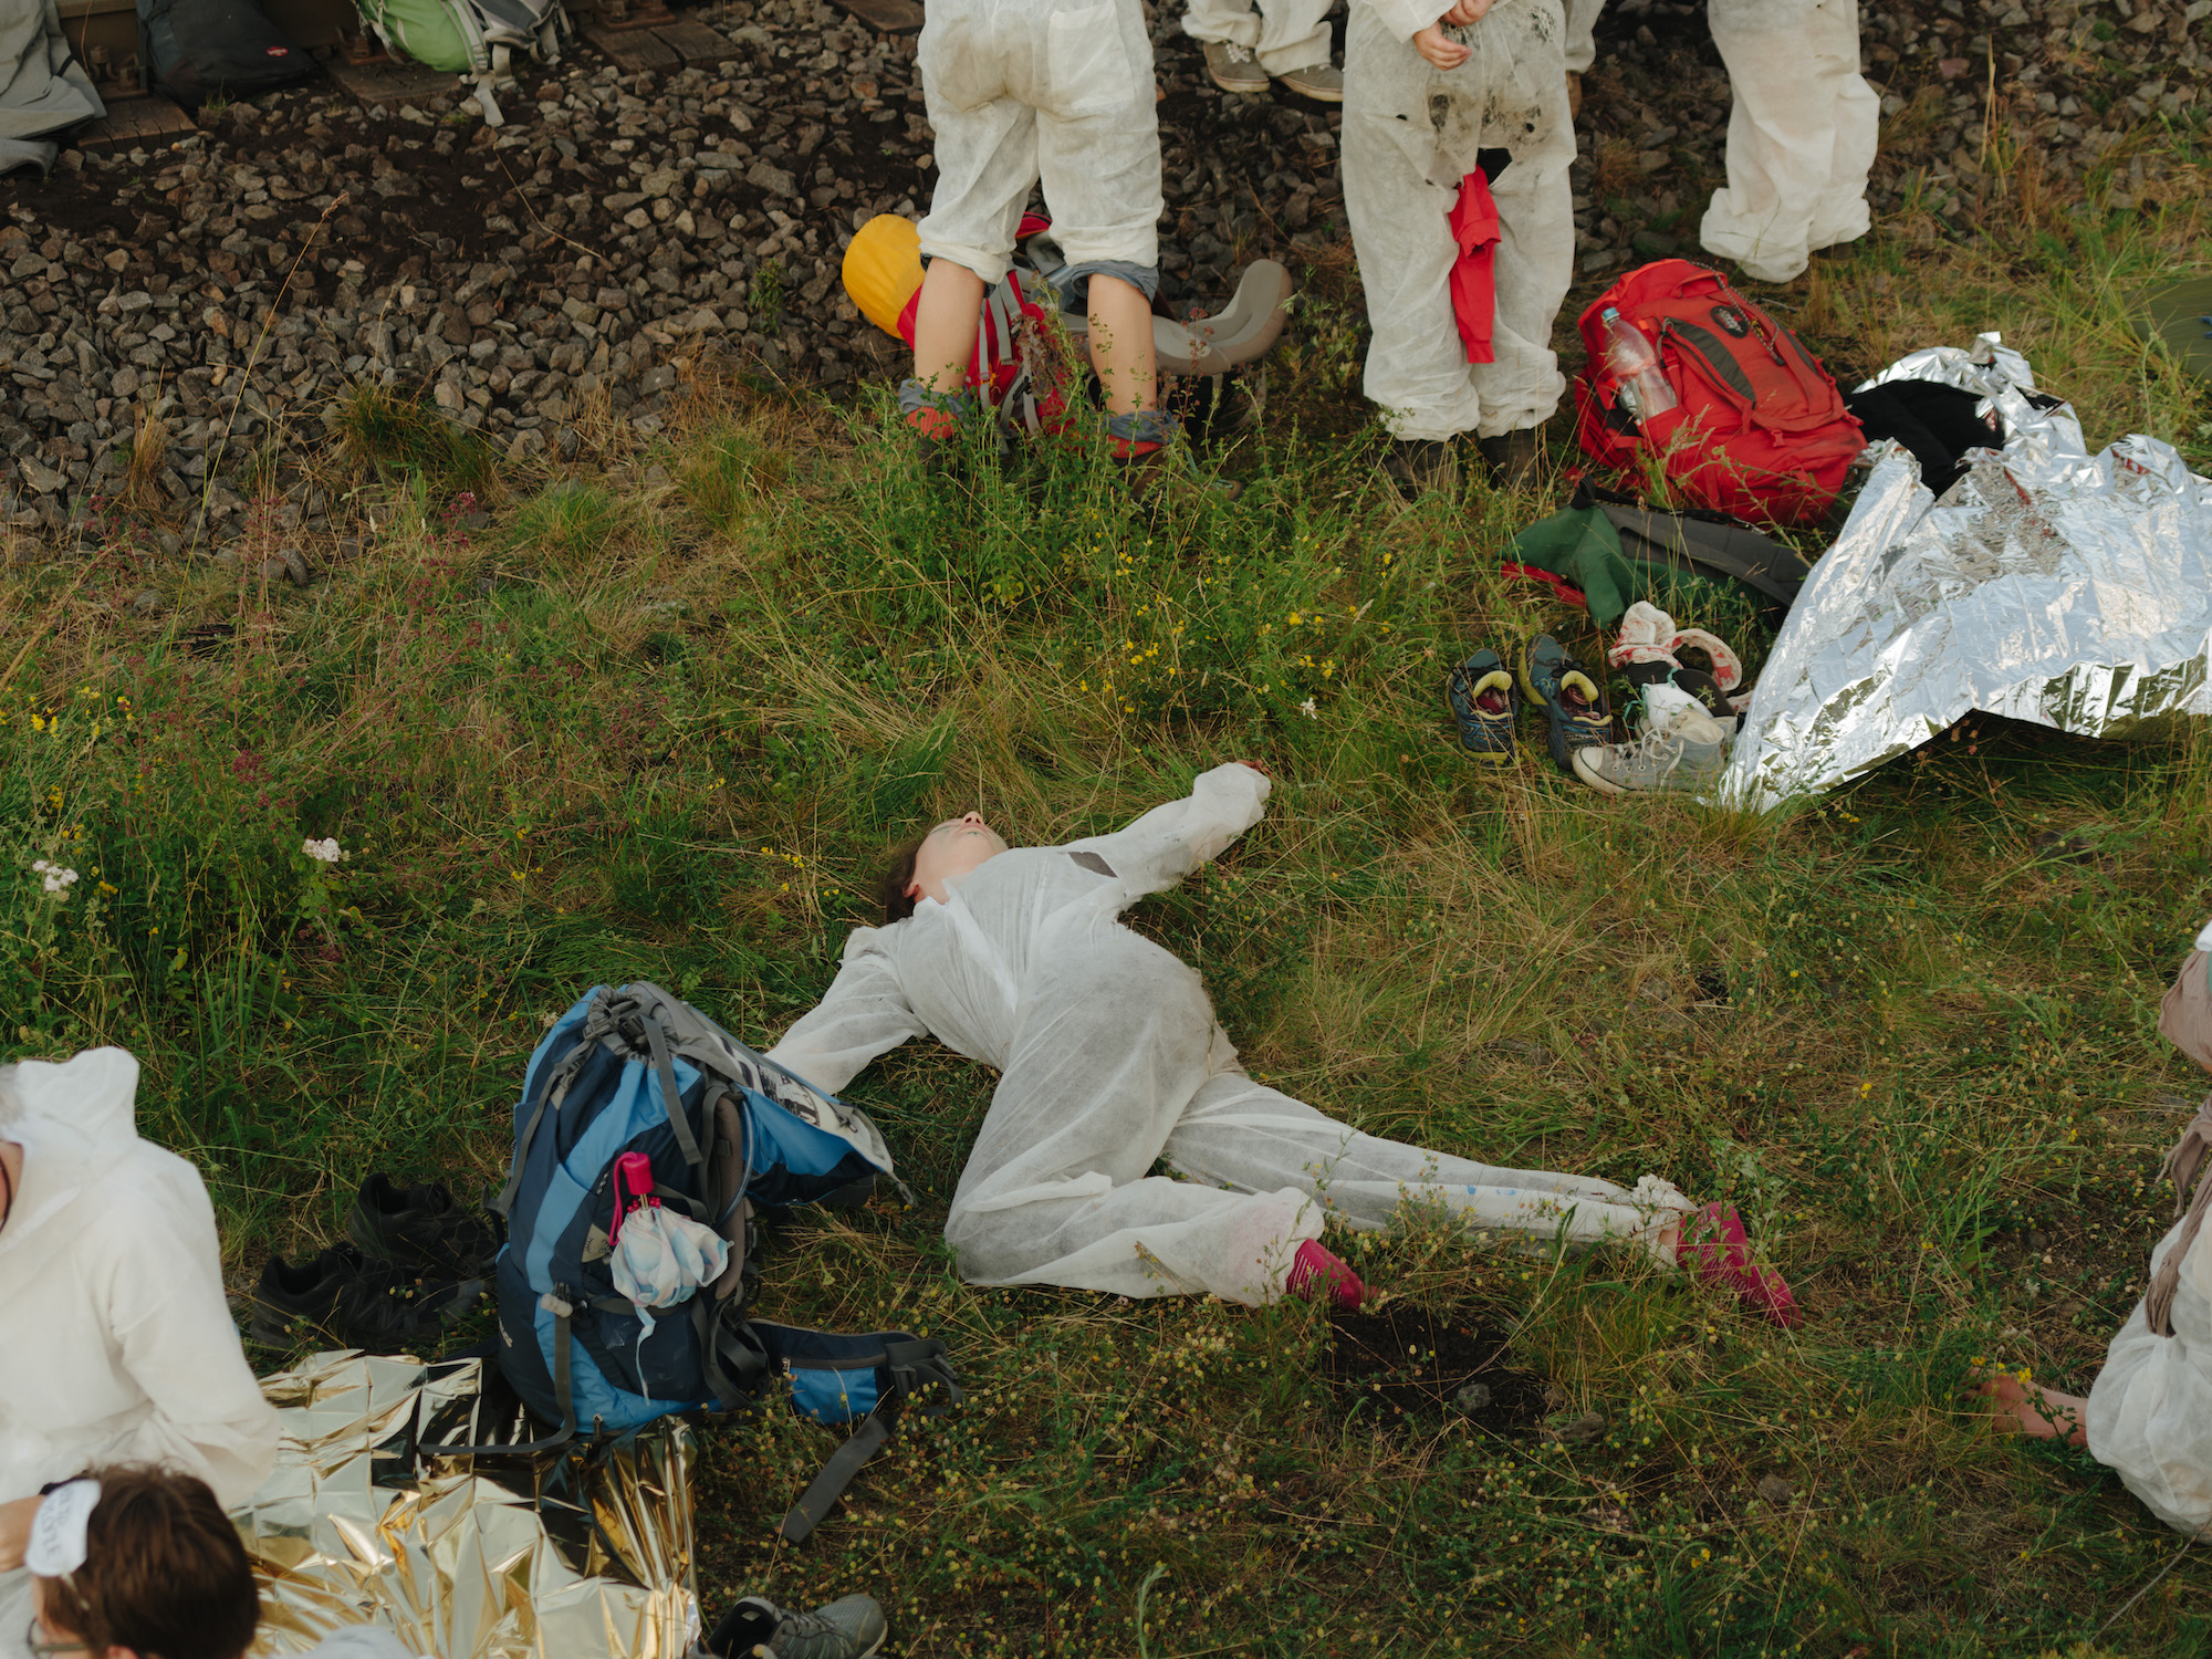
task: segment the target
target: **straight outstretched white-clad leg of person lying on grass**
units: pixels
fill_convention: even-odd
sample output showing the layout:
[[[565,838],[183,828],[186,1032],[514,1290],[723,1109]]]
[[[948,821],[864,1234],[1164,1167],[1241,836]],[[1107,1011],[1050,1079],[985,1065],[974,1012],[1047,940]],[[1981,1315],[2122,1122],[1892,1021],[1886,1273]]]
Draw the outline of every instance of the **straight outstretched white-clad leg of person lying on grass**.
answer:
[[[1181,1175],[1232,1190],[1312,1190],[1354,1228],[1383,1228],[1400,1206],[1429,1206],[1478,1230],[1624,1239],[1672,1259],[1683,1199],[1646,1177],[1635,1190],[1582,1175],[1506,1170],[1363,1135],[1301,1099],[1219,1071],[1192,1097],[1161,1157]]]

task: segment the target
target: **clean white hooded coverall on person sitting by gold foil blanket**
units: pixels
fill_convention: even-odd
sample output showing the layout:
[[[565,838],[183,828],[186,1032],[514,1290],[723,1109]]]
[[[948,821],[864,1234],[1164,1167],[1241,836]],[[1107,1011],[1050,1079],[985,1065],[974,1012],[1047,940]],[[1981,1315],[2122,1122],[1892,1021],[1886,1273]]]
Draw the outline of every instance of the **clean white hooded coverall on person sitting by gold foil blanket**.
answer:
[[[22,1186],[0,1228],[0,1502],[88,1464],[150,1462],[199,1475],[228,1509],[276,1462],[208,1188],[137,1137],[137,1075],[122,1048],[93,1048],[7,1077],[0,1139],[22,1146]],[[0,1652],[22,1639],[29,1590],[29,1573],[0,1573]]]

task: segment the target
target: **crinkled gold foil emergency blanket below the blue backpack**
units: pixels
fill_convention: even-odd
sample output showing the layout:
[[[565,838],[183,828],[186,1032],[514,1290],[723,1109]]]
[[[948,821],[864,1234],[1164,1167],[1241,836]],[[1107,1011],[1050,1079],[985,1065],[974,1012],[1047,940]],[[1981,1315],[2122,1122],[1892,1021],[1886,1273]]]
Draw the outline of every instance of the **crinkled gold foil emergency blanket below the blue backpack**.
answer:
[[[254,1659],[356,1624],[431,1659],[681,1659],[699,1632],[684,1425],[438,1458],[509,1438],[478,1422],[478,1360],[316,1354],[261,1389],[283,1442],[232,1513],[261,1582]]]

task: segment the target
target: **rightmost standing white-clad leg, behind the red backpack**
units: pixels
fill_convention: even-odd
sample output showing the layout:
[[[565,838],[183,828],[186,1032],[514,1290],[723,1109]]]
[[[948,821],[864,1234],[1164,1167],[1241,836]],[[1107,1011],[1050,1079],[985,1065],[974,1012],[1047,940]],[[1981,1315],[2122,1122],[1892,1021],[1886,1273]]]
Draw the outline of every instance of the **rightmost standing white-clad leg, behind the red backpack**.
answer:
[[[1867,232],[1880,100],[1858,73],[1856,0],[1712,0],[1728,64],[1728,186],[1699,228],[1708,252],[1785,283],[1814,248]]]

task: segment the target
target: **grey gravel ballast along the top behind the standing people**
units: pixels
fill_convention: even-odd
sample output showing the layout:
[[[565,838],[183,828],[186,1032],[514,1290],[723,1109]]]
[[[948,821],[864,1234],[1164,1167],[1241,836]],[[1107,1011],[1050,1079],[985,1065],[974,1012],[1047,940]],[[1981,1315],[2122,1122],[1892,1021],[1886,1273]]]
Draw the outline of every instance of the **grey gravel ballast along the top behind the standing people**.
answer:
[[[1889,117],[1878,234],[1973,234],[1993,93],[2062,192],[2139,126],[2197,122],[2208,11],[1867,11]],[[577,44],[502,97],[504,128],[458,93],[372,111],[316,82],[206,111],[159,153],[66,150],[46,179],[0,179],[0,524],[66,529],[117,493],[153,425],[137,500],[164,546],[221,546],[250,495],[285,529],[330,529],[296,460],[363,383],[427,392],[529,462],[650,436],[710,343],[832,396],[894,374],[900,347],[854,312],[838,254],[869,215],[927,206],[914,38],[814,0],[697,15],[730,40],[723,62],[622,75]],[[1340,113],[1223,97],[1179,11],[1152,33],[1170,296],[1225,294],[1256,257],[1340,268]],[[1584,294],[1697,257],[1728,126],[1703,9],[1617,4],[1586,93]],[[2115,170],[2106,206],[2132,206],[2141,168]]]

